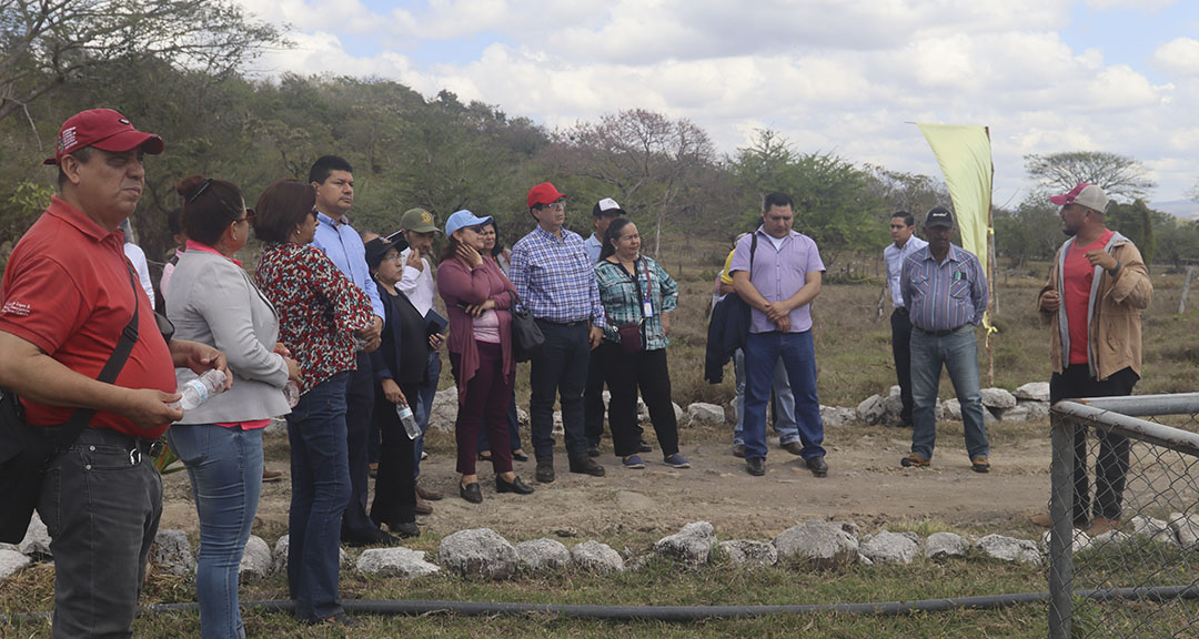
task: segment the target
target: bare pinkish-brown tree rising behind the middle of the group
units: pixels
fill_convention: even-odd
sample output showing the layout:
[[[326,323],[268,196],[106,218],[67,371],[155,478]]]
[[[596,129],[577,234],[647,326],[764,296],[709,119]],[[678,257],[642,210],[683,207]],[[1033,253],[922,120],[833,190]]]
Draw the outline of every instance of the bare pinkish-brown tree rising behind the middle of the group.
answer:
[[[653,254],[658,255],[662,227],[687,181],[716,158],[707,133],[689,120],[631,109],[607,114],[598,122],[580,122],[556,141],[574,151],[564,157],[565,170],[616,187],[621,201],[652,203],[657,209]]]

